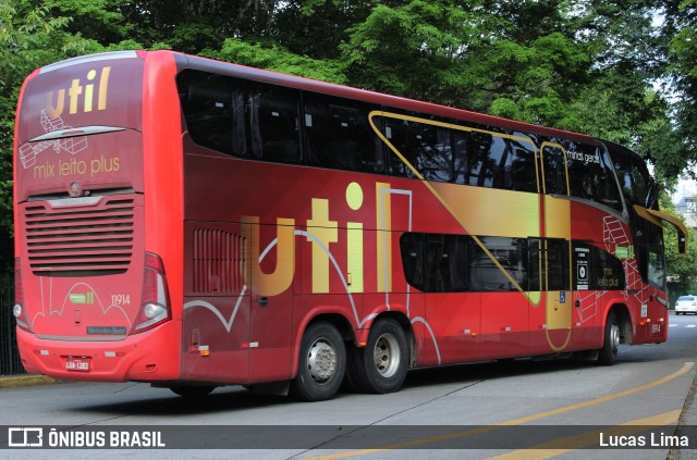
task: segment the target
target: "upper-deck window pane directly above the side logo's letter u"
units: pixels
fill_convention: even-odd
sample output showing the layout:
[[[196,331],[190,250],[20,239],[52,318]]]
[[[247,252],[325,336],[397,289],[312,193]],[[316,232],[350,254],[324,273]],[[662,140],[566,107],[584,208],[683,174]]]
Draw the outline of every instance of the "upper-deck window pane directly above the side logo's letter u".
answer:
[[[254,157],[265,161],[299,163],[299,91],[258,85],[252,91],[250,102]]]

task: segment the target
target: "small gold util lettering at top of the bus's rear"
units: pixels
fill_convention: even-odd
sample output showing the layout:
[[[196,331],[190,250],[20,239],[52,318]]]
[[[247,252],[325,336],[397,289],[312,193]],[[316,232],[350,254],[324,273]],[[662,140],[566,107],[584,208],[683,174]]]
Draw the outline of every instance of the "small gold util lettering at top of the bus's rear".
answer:
[[[85,83],[81,78],[73,78],[69,88],[49,91],[46,101],[46,113],[51,119],[60,116],[65,110],[66,100],[68,112],[71,115],[81,111],[87,113],[93,110],[107,110],[110,74],[111,66],[101,67],[100,71],[90,70],[85,76]],[[97,78],[97,75],[99,75],[99,78]],[[68,97],[65,97],[65,92],[68,92]],[[95,94],[97,95],[96,107]]]

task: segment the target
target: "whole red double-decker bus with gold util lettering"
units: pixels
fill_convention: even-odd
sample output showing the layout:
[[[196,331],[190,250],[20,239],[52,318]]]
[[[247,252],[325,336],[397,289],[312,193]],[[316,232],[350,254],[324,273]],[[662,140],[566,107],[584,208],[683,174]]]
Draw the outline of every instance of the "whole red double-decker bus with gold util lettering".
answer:
[[[321,400],[668,337],[670,219],[589,136],[127,51],[35,71],[14,141],[28,372]]]

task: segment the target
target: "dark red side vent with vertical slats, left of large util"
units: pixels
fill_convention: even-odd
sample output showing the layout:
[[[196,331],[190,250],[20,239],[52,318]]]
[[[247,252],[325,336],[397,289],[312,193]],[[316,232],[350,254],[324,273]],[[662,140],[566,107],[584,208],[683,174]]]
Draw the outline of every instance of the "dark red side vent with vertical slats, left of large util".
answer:
[[[194,293],[239,294],[244,285],[245,238],[213,228],[194,229]]]

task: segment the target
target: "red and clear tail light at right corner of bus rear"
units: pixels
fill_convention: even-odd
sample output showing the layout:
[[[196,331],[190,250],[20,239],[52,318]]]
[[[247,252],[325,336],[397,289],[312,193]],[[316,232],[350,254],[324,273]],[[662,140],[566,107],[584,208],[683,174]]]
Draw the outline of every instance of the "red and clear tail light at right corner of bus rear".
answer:
[[[164,264],[159,256],[145,253],[140,310],[131,334],[149,331],[172,318]]]

